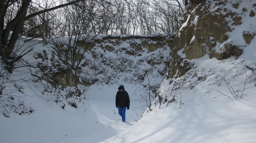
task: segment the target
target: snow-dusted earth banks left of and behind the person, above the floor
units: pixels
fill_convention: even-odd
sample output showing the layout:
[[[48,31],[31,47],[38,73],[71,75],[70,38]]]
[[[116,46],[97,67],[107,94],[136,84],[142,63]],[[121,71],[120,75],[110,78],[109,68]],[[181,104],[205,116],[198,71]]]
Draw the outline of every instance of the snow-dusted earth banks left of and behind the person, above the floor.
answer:
[[[74,43],[75,37],[72,38]],[[17,63],[13,73],[7,73],[1,65],[3,102],[0,110],[6,116],[10,112],[20,115],[33,112],[34,106],[26,99],[29,96],[38,96],[63,109],[66,105],[76,107],[87,102],[86,91],[92,84],[138,84],[137,91],[145,91],[147,86],[156,88],[165,78],[171,58],[171,47],[166,41],[172,40],[172,35],[98,35],[94,38],[96,44],[84,52],[81,66],[71,69],[77,62],[63,54],[69,48],[68,37],[59,37],[58,42],[43,43],[35,39],[24,44],[28,39],[24,37],[19,41],[17,51],[33,50]],[[134,43],[136,45],[129,47]]]

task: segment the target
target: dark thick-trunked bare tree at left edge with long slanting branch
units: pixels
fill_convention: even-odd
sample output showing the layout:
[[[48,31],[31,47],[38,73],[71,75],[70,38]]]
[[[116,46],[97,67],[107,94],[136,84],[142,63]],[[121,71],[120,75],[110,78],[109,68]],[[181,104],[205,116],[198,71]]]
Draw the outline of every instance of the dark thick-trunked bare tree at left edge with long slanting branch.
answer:
[[[15,1],[1,0],[0,2],[0,19],[1,19],[0,21],[0,29],[1,29],[0,56],[2,56],[1,60],[5,62],[9,72],[12,72],[14,63],[20,60],[24,56],[24,55],[20,55],[19,57],[16,57],[15,53],[13,53],[13,50],[14,50],[16,41],[20,36],[20,33],[22,31],[25,21],[39,14],[56,10],[58,8],[65,7],[71,4],[75,4],[83,0],[71,1],[66,4],[61,4],[56,7],[47,8],[47,9],[32,13],[30,15],[27,15],[27,11],[31,6],[31,1],[32,0],[15,0]],[[8,22],[5,19],[7,11],[11,11],[12,12],[11,17],[13,17],[12,19],[9,19]],[[13,12],[13,11],[16,11],[16,12]]]

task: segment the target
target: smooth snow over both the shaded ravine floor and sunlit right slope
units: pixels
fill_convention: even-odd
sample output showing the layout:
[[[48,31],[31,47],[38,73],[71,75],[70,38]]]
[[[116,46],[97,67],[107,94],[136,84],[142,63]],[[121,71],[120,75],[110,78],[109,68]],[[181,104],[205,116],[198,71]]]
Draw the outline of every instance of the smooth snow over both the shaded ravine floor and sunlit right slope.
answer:
[[[145,113],[145,102],[139,100],[142,91],[137,86],[119,83],[116,85],[93,85],[87,91],[88,102],[78,108],[47,103],[44,99],[26,97],[34,104],[29,115],[10,113],[0,116],[3,143],[108,143],[108,142],[175,142],[175,143],[254,143],[256,141],[256,88],[255,73],[244,65],[254,65],[252,60],[216,59],[194,60],[196,68],[186,77],[184,84],[162,83],[160,93],[176,95],[176,102],[152,105],[153,111]],[[226,79],[241,94],[246,79],[250,77],[242,98],[235,99],[225,83],[214,72],[225,69]],[[196,75],[197,76],[194,76]],[[198,77],[206,77],[198,80]],[[121,121],[115,107],[117,87],[123,84],[131,99],[126,110],[126,122]],[[170,89],[180,86],[179,89]],[[218,91],[223,92],[220,94]],[[170,97],[170,96],[168,96]],[[168,99],[169,100],[169,99]],[[181,100],[181,101],[180,101]],[[143,101],[143,100],[142,100]],[[181,104],[183,103],[183,104]],[[139,120],[140,119],[140,120]]]

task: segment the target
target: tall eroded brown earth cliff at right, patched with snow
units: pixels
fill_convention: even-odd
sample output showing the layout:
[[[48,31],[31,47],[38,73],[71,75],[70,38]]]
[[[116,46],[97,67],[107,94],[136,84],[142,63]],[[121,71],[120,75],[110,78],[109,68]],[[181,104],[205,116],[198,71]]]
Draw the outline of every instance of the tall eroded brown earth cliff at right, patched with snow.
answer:
[[[239,57],[256,34],[247,30],[255,12],[256,1],[206,0],[188,6],[174,38],[168,77],[184,75],[192,66],[189,60],[205,55],[218,60]],[[241,36],[243,42],[237,43],[232,36]]]

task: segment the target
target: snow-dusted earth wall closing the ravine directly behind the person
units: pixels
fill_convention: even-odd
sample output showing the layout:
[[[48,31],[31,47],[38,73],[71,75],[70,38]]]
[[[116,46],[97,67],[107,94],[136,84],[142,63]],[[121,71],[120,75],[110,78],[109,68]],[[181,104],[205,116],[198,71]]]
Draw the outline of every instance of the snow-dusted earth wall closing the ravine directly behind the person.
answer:
[[[51,79],[62,86],[76,87],[78,84],[90,86],[96,82],[112,84],[111,82],[122,78],[125,82],[143,82],[148,69],[165,76],[170,64],[172,41],[173,35],[160,34],[99,35],[90,42],[80,40],[77,41],[78,46],[86,54],[76,74],[71,69],[58,68],[57,71],[50,71],[53,75]],[[65,44],[64,42],[62,45]],[[62,60],[64,64],[70,60],[71,54],[83,56],[66,52],[66,47],[60,48],[67,56],[66,60]],[[43,57],[46,56],[40,54],[37,58],[43,60]],[[42,69],[44,66],[41,66]]]

